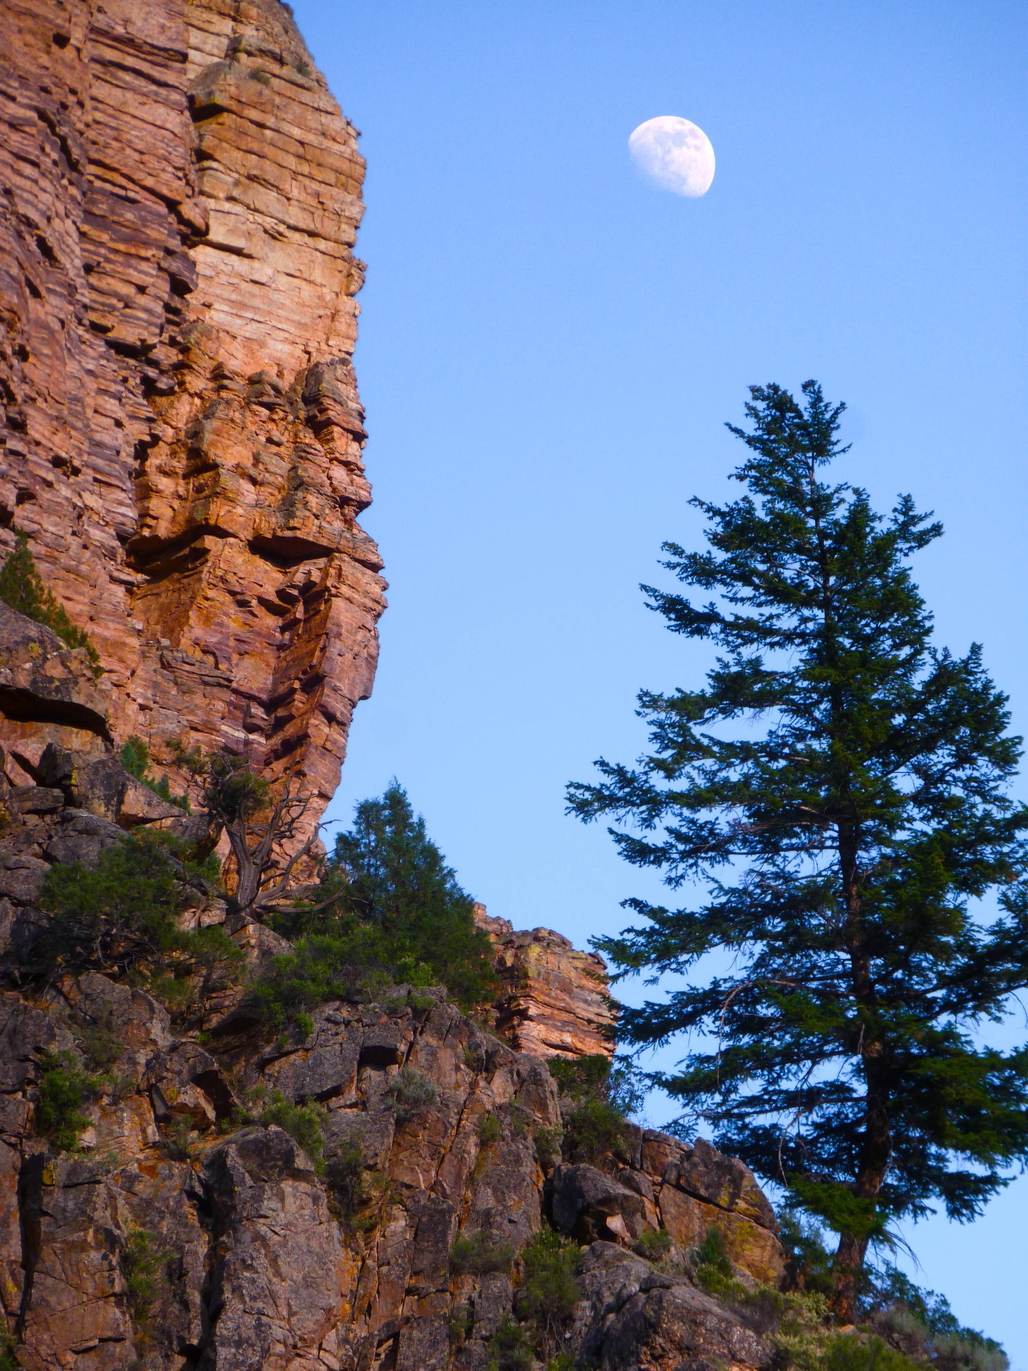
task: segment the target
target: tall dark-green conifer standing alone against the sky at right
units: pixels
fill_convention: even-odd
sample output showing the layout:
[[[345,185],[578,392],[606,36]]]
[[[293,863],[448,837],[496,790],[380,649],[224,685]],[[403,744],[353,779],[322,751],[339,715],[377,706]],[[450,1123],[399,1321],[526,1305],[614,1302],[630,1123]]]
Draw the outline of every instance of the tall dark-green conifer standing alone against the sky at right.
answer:
[[[1006,786],[1021,740],[972,646],[931,643],[907,562],[942,529],[902,496],[891,517],[824,469],[844,406],[803,385],[751,388],[747,494],[707,518],[709,550],[665,543],[696,605],[643,587],[674,633],[718,648],[702,690],[643,691],[651,751],[598,762],[569,810],[607,816],[621,854],[685,908],[596,946],[620,975],[728,969],[625,1009],[639,1047],[706,1035],[657,1079],[683,1127],[787,1186],[837,1234],[835,1302],[851,1316],[872,1241],[940,1200],[977,1215],[1028,1160],[1028,1053],[981,1046],[1028,986],[1028,812]],[[980,905],[998,890],[999,910]],[[724,962],[721,962],[724,965]],[[652,980],[650,982],[652,983]]]

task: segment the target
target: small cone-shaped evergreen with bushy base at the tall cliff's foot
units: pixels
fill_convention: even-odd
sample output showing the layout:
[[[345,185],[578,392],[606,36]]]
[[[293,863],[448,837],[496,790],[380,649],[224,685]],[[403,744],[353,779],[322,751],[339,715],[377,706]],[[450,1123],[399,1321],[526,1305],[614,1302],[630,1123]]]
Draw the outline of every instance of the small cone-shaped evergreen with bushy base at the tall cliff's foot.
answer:
[[[381,799],[356,806],[354,827],[337,838],[310,906],[271,914],[269,921],[286,938],[300,939],[296,957],[308,964],[299,976],[293,968],[273,972],[260,991],[271,1013],[291,1012],[288,995],[307,976],[302,995],[307,1008],[315,991],[322,998],[367,998],[388,984],[441,983],[462,1009],[470,1009],[495,986],[492,947],[474,927],[472,898],[396,783]],[[292,988],[277,984],[276,976],[292,980]],[[421,1009],[429,1008],[428,998],[418,997]]]

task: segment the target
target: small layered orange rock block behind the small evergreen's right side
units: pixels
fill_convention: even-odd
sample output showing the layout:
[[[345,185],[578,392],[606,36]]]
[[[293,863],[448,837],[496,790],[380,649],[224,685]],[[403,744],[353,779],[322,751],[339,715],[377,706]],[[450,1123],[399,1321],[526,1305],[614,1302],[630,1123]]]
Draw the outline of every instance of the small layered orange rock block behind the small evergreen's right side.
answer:
[[[476,905],[476,923],[496,951],[500,998],[492,1027],[518,1052],[537,1057],[614,1053],[607,967],[552,928],[515,931]]]

